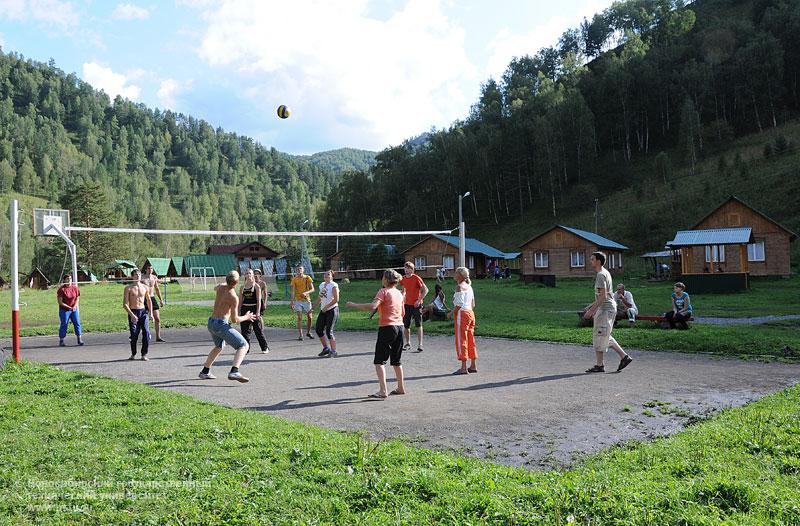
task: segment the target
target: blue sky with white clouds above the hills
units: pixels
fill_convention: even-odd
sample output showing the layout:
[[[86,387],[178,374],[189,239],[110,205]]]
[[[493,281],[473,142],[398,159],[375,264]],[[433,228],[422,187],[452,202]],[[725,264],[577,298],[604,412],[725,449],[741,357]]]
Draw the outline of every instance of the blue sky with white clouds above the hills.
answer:
[[[464,119],[513,57],[610,4],[0,0],[0,46],[280,151],[382,150]]]

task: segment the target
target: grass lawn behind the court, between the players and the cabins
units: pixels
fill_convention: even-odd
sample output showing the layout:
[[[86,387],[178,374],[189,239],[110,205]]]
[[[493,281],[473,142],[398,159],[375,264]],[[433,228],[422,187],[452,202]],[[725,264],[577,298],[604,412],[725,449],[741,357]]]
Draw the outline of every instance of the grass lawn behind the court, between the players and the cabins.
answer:
[[[650,283],[626,280],[642,314],[659,314],[670,308],[671,283]],[[452,282],[450,282],[452,283]],[[448,283],[447,296],[452,285]],[[432,284],[431,284],[432,285]],[[371,300],[379,287],[377,282],[358,281],[340,284],[342,301]],[[495,283],[478,280],[474,283],[477,298],[479,336],[545,340],[589,344],[591,329],[578,327],[575,314],[592,300],[589,280],[561,280],[556,288],[524,285],[516,280]],[[285,299],[283,287],[276,288],[273,299]],[[689,291],[691,292],[691,291]],[[122,309],[122,286],[104,284],[81,288],[81,320],[91,331],[120,331],[126,328]],[[205,325],[210,307],[179,305],[174,302],[210,299],[211,292],[191,293],[178,285],[168,288],[168,304],[162,310],[164,326],[188,327]],[[767,314],[800,314],[800,278],[790,280],[754,280],[752,289],[736,294],[692,294],[695,313],[700,316],[752,317]],[[21,312],[23,335],[57,333],[55,291],[24,290],[20,301],[26,302]],[[0,295],[0,309],[9,307],[9,292]],[[291,327],[294,317],[288,306],[274,305],[266,314],[267,324]],[[694,324],[689,331],[661,330],[651,322],[635,327],[620,324],[616,337],[624,347],[712,352],[743,356],[783,356],[783,349],[800,348],[800,323],[773,322],[754,326],[714,326]],[[360,311],[342,308],[340,330],[374,330],[375,321],[367,320]],[[451,334],[449,323],[428,323],[425,330],[434,334]],[[8,321],[0,324],[0,335],[8,336]]]

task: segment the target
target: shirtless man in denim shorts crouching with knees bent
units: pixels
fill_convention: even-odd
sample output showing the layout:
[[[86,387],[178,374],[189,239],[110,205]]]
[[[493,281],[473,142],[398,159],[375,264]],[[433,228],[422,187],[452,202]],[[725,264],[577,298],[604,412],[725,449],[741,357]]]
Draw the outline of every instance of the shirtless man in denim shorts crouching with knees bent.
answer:
[[[211,374],[211,366],[214,365],[214,360],[217,359],[217,356],[219,356],[222,348],[227,343],[236,349],[236,354],[233,356],[233,367],[228,373],[228,380],[241,383],[250,381],[249,378],[242,376],[242,373],[239,372],[239,366],[242,364],[249,346],[244,337],[231,324],[253,321],[256,319],[256,314],[247,312],[243,316],[239,316],[239,297],[236,295],[236,285],[238,284],[239,273],[231,270],[225,276],[225,284],[217,285],[214,288],[217,294],[214,299],[214,312],[208,319],[208,332],[211,333],[211,337],[214,339],[214,348],[208,353],[206,363],[203,364],[203,370],[200,371],[201,380],[213,380],[216,378]]]

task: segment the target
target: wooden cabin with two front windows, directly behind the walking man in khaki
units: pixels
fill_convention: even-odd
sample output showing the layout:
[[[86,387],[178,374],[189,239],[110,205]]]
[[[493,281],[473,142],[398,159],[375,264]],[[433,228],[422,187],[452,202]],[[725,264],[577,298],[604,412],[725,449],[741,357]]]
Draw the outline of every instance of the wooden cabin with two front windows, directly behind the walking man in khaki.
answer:
[[[606,254],[605,267],[609,272],[622,272],[622,254],[628,247],[594,232],[556,225],[529,239],[520,249],[522,279],[554,285],[555,278],[594,277],[596,272],[589,263],[592,252]]]

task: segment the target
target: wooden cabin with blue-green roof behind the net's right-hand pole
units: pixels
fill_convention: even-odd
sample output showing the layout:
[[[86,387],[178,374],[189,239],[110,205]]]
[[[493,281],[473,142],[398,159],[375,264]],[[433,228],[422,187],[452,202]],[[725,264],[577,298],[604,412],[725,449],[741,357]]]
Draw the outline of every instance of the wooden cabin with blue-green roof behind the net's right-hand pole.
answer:
[[[435,278],[436,270],[442,267],[447,276],[452,276],[458,266],[458,241],[458,236],[434,234],[404,250],[403,258],[413,262],[417,274],[424,278]],[[465,238],[464,242],[465,263],[472,277],[486,276],[491,265],[513,267],[513,262],[519,257],[519,252],[503,252],[475,238]]]

